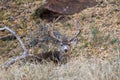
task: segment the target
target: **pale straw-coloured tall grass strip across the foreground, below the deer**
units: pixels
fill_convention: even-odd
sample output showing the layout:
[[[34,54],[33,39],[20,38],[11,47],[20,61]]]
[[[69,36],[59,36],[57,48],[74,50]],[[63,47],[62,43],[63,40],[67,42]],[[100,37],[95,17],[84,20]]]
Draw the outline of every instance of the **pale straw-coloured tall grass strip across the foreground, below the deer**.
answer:
[[[98,58],[72,58],[65,65],[53,63],[32,64],[23,62],[12,65],[7,71],[1,70],[2,80],[119,80],[120,52],[112,60]]]

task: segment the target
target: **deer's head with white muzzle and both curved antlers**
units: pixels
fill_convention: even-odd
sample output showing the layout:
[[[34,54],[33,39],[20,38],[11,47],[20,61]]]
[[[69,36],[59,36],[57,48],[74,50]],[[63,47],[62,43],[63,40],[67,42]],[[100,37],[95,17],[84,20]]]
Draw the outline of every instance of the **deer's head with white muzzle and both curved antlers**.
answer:
[[[61,53],[67,53],[67,55],[70,55],[70,53],[71,53],[71,44],[73,42],[75,42],[76,37],[80,33],[79,22],[77,20],[75,20],[74,22],[75,22],[75,26],[76,26],[77,30],[76,30],[75,35],[73,35],[70,38],[65,37],[65,38],[61,39],[61,38],[56,37],[56,35],[54,34],[54,31],[53,31],[54,23],[51,24],[51,26],[49,27],[49,35],[52,38],[54,38],[57,41],[59,41],[59,43],[60,43],[60,52]]]

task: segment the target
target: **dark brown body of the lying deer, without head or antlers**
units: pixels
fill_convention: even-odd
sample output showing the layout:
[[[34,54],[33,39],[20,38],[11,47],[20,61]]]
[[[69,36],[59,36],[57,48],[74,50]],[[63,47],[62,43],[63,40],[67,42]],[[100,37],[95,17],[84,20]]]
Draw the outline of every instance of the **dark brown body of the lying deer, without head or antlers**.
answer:
[[[64,64],[67,62],[68,55],[62,55],[60,51],[49,51],[37,54],[33,59],[37,62],[53,61],[54,63]]]

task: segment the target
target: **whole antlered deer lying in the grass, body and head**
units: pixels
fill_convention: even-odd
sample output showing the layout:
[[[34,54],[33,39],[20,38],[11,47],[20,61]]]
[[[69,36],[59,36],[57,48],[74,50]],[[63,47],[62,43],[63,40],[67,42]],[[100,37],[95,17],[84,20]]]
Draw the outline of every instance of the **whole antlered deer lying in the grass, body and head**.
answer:
[[[78,21],[75,21],[75,26],[77,28],[75,35],[73,35],[70,38],[59,35],[59,36],[62,36],[62,38],[59,38],[58,35],[55,35],[54,30],[53,30],[53,27],[55,26],[54,25],[55,22],[51,23],[50,26],[48,27],[48,34],[53,39],[57,40],[57,42],[59,43],[59,50],[49,51],[49,52],[35,55],[33,59],[39,62],[50,60],[50,61],[53,61],[55,63],[60,63],[60,64],[66,63],[68,58],[70,57],[71,45],[73,42],[76,42],[75,40],[80,33]]]

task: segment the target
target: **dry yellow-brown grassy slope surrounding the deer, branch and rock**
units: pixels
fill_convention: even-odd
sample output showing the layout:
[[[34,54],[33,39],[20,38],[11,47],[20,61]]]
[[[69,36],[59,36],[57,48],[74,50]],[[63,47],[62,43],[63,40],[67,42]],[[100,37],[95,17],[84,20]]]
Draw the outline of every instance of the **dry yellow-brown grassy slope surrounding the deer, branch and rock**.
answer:
[[[23,41],[32,41],[47,34],[41,31],[45,20],[32,18],[32,14],[44,0],[10,0],[0,3],[0,25],[8,25],[19,35],[27,35]],[[82,32],[79,42],[73,46],[72,57],[65,65],[33,64],[19,61],[7,71],[0,70],[1,80],[120,80],[120,0],[97,0],[99,5],[70,16],[79,19]],[[7,6],[7,7],[6,7]],[[3,7],[3,9],[1,8]],[[9,8],[8,8],[9,7]],[[56,23],[55,28],[63,34],[71,34],[72,20]],[[66,26],[66,27],[65,27]],[[64,33],[66,32],[66,33]],[[0,36],[6,35],[0,32]],[[71,34],[72,35],[72,34]],[[41,43],[40,43],[41,44]],[[53,44],[29,47],[38,54],[53,49]],[[50,48],[52,47],[52,48]],[[55,46],[56,47],[56,46]],[[21,51],[16,40],[0,40],[0,64]]]

